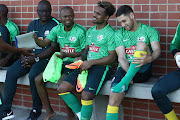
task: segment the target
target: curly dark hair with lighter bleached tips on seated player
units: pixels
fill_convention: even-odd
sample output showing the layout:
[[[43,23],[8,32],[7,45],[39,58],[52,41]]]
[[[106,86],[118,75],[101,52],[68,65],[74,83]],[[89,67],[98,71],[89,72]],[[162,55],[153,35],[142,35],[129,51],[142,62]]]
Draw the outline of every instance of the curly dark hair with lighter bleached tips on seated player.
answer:
[[[99,2],[97,3],[97,5],[98,5],[99,7],[104,8],[104,9],[105,9],[105,14],[108,15],[109,17],[110,17],[111,15],[113,15],[114,12],[116,11],[114,5],[112,5],[112,4],[111,4],[110,2],[108,2],[108,1],[99,1]]]

